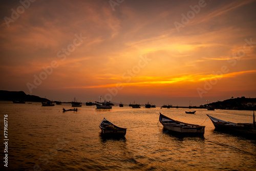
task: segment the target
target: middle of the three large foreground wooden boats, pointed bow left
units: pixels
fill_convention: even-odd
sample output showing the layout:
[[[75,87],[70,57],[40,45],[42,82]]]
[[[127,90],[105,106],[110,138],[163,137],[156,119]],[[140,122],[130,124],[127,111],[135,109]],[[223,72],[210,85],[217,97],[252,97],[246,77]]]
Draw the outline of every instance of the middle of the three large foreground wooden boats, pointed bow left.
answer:
[[[180,122],[174,119],[170,119],[167,116],[164,116],[160,113],[159,121],[162,123],[163,127],[166,130],[169,130],[173,133],[179,135],[188,135],[188,136],[201,136],[204,135],[205,126],[190,124]]]

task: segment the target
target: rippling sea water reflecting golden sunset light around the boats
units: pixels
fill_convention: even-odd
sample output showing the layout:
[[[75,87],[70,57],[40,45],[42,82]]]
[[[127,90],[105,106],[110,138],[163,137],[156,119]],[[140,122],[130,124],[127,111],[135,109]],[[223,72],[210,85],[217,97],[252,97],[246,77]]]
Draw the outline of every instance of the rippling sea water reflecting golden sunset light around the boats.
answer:
[[[128,106],[96,110],[83,104],[41,106],[0,101],[1,168],[5,170],[255,170],[256,140],[214,131],[206,114],[231,122],[252,122],[252,111]],[[193,111],[191,109],[190,111]],[[158,123],[159,112],[170,118],[205,125],[203,137],[176,137]],[[8,169],[4,167],[3,120],[8,115]],[[106,118],[126,127],[125,138],[99,136]]]

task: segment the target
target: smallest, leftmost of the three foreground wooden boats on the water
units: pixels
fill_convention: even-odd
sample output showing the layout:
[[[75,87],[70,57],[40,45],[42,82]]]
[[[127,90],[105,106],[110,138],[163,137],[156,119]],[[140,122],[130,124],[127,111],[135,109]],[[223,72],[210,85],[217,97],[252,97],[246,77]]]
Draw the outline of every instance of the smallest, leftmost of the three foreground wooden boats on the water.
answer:
[[[105,118],[100,122],[99,127],[104,136],[125,136],[126,134],[125,128],[118,127]]]

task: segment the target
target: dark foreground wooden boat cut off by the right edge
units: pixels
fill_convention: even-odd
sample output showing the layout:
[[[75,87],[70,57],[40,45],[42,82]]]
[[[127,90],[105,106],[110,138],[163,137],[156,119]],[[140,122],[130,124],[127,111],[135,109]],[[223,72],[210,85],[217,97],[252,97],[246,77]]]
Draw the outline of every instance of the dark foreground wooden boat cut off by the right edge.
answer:
[[[253,112],[253,123],[233,123],[214,118],[207,115],[211,122],[214,124],[215,129],[224,132],[243,134],[243,135],[256,135],[255,117]]]

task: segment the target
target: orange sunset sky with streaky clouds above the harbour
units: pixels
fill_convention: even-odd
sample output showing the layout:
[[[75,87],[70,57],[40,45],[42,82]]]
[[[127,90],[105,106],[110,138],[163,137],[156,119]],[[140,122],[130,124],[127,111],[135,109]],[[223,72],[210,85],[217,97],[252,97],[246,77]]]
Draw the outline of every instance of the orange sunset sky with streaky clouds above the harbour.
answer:
[[[0,6],[0,90],[180,106],[256,97],[256,1],[21,2]]]

